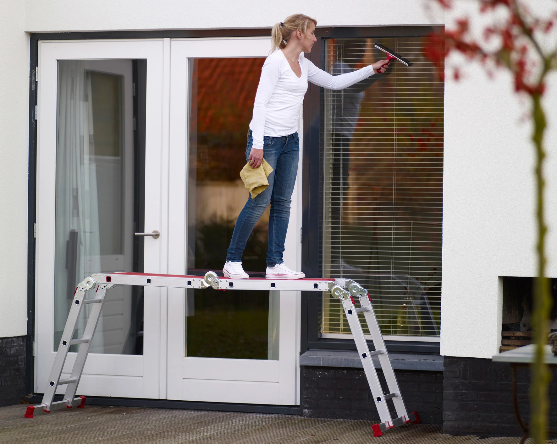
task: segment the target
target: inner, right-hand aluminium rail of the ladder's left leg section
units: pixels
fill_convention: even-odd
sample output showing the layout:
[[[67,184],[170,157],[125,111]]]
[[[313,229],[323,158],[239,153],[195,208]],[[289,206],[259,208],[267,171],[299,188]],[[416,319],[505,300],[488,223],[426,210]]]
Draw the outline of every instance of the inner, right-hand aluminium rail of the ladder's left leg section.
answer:
[[[77,351],[77,356],[75,358],[74,368],[72,368],[70,374],[70,379],[75,379],[75,381],[67,384],[66,393],[64,395],[64,399],[68,402],[69,406],[71,406],[71,402],[75,397],[75,392],[77,391],[77,386],[79,385],[79,381],[85,367],[85,361],[87,359],[87,355],[89,354],[89,347],[91,346],[97,324],[99,324],[102,305],[104,305],[105,301],[106,290],[112,287],[115,287],[115,285],[101,284],[99,285],[99,287],[97,287],[95,298],[101,299],[101,302],[97,304],[91,304],[91,312],[89,313],[87,324],[85,325],[85,329],[83,332],[83,337],[87,339],[87,342],[82,342],[79,344],[79,350]]]

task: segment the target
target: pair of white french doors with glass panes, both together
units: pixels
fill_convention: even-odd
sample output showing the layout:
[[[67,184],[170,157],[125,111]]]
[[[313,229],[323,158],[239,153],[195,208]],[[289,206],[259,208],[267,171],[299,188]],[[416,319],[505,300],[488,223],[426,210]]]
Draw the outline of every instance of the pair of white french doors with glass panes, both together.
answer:
[[[87,275],[222,269],[247,197],[239,172],[270,44],[269,38],[40,43],[37,393],[50,374],[67,301]],[[256,273],[265,270],[265,218],[244,255]],[[284,256],[297,269],[300,227],[298,180]],[[134,236],[153,230],[159,238]],[[199,291],[109,290],[77,393],[299,404],[300,293]],[[70,350],[63,373],[74,359]]]

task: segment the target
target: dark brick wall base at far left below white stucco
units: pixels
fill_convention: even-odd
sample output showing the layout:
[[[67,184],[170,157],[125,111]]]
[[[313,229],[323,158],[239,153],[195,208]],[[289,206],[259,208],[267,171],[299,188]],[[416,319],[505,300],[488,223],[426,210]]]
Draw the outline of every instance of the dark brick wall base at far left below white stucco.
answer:
[[[0,338],[0,407],[21,403],[25,394],[25,336]]]

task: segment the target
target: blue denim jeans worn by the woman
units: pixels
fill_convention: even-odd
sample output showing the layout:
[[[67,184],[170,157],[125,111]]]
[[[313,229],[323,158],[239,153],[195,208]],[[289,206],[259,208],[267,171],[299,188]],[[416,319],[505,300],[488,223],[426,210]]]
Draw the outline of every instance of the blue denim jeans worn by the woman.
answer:
[[[253,137],[250,130],[247,137],[246,161],[250,157],[252,145]],[[255,199],[252,199],[251,195],[248,196],[246,205],[236,220],[230,246],[226,251],[226,260],[232,262],[242,260],[242,253],[253,227],[261,218],[267,205],[271,203],[267,267],[274,267],[283,262],[282,253],[284,253],[284,241],[290,219],[290,203],[296,182],[299,154],[300,138],[297,132],[282,137],[263,137],[263,159],[273,169],[267,177],[269,186]]]

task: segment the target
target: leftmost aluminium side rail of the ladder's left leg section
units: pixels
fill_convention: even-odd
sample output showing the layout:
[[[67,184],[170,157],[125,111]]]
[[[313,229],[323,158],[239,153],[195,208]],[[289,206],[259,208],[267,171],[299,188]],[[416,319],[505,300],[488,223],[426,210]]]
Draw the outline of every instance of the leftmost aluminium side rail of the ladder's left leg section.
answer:
[[[71,302],[70,313],[66,319],[66,325],[62,332],[62,337],[60,338],[60,344],[58,344],[58,351],[56,352],[56,357],[54,358],[54,363],[52,364],[50,376],[48,376],[45,394],[42,397],[42,404],[45,404],[45,411],[47,412],[50,411],[52,400],[54,399],[58,382],[60,381],[60,375],[62,374],[62,369],[66,363],[66,357],[70,349],[70,341],[74,336],[77,319],[79,319],[81,307],[83,306],[82,300],[84,299],[84,296],[85,290],[78,288],[75,292],[74,299]]]

